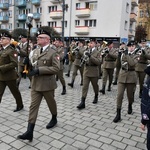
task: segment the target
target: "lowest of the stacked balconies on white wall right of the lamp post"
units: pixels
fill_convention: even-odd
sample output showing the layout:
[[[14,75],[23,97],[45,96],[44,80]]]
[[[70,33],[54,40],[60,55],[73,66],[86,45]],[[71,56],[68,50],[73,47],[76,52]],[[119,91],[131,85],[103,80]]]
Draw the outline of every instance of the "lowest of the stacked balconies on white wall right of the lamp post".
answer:
[[[76,26],[75,33],[78,35],[87,35],[89,34],[89,27],[86,26]]]

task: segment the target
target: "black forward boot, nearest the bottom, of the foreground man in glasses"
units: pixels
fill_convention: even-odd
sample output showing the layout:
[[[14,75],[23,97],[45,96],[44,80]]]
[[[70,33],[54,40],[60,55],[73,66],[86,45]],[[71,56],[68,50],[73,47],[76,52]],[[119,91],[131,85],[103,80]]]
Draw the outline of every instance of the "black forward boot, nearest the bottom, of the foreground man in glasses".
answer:
[[[29,140],[30,142],[32,142],[34,126],[34,123],[28,123],[27,131],[24,134],[19,135],[17,138],[22,140]]]

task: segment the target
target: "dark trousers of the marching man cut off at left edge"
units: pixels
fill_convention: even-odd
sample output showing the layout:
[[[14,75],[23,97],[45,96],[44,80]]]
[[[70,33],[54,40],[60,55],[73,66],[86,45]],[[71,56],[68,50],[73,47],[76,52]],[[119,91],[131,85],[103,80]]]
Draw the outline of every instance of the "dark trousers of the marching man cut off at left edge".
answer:
[[[16,86],[16,80],[0,81],[0,103],[1,103],[2,96],[4,94],[6,86],[8,86],[12,95],[14,96],[17,106],[21,107],[23,105],[22,97],[21,97],[18,87]]]

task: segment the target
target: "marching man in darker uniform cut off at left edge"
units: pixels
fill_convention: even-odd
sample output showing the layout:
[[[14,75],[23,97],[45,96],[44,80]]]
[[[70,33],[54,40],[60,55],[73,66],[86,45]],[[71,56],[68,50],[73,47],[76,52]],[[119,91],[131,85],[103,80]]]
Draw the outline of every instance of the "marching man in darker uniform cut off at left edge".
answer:
[[[11,46],[11,35],[7,30],[0,33],[0,44],[2,49],[0,51],[0,102],[4,94],[6,86],[13,94],[17,107],[14,112],[23,109],[23,102],[21,93],[16,86],[16,80],[18,78],[17,67],[17,51]]]

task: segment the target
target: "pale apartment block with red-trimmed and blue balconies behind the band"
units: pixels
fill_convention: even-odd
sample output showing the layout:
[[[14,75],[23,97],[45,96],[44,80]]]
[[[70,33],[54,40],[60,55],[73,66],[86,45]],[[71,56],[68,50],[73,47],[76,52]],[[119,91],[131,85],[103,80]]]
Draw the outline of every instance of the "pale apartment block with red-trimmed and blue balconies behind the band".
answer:
[[[27,14],[33,13],[31,33],[50,26],[65,40],[127,42],[134,39],[137,6],[138,0],[0,0],[0,25],[10,31],[27,28]]]

